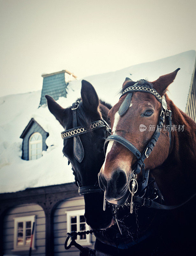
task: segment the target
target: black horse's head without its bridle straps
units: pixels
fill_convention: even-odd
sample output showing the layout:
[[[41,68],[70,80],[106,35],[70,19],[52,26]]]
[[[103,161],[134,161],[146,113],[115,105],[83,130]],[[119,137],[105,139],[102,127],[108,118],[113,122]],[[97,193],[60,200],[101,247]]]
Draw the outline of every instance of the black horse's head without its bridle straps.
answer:
[[[47,104],[50,112],[56,117],[65,130],[73,127],[73,111],[71,107],[62,108],[55,100],[46,95]],[[107,122],[107,114],[111,106],[98,99],[94,87],[87,81],[82,80],[81,99],[77,108],[77,125],[90,129],[92,122],[102,120]],[[59,134],[60,136],[60,134]],[[98,185],[98,172],[104,162],[103,151],[106,139],[105,127],[92,130],[81,134],[80,140],[83,146],[83,159],[78,161],[74,156],[73,138],[64,140],[63,154],[72,165],[76,180],[79,185],[92,186]],[[84,195],[86,223],[93,229],[105,229],[112,222],[111,210],[106,207],[103,211],[103,193],[96,192]]]

